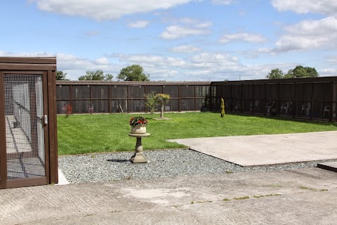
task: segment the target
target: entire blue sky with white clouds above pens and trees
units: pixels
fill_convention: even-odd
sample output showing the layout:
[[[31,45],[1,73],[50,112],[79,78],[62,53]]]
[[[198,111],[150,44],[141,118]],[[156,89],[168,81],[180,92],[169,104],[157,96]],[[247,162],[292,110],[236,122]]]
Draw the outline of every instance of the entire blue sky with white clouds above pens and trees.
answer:
[[[166,81],[337,75],[336,0],[15,0],[0,19],[0,56],[56,56],[72,80],[133,64]]]

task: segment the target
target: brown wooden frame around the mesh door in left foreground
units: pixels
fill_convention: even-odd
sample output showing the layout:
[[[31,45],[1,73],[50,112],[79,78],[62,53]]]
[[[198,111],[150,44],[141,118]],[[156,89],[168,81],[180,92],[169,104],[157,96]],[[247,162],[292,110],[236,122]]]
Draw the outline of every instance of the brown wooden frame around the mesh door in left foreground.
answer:
[[[0,57],[0,89],[4,75],[42,75],[44,115],[45,175],[41,178],[7,180],[6,127],[0,127],[0,188],[15,188],[58,183],[58,146],[56,121],[56,58]],[[6,122],[4,91],[0,91],[0,122]]]

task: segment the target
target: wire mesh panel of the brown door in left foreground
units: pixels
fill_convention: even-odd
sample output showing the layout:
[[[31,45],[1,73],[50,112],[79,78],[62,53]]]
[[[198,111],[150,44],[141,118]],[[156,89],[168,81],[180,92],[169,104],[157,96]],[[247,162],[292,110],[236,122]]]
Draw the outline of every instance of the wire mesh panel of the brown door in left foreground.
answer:
[[[45,176],[42,75],[4,75],[7,176]]]

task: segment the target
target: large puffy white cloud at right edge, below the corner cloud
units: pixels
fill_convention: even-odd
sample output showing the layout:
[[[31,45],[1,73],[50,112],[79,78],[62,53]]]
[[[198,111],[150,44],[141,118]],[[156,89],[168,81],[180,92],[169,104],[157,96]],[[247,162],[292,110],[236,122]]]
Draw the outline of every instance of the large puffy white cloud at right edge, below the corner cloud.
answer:
[[[322,46],[336,48],[337,19],[304,20],[285,27],[284,34],[277,42],[275,51],[317,49]]]

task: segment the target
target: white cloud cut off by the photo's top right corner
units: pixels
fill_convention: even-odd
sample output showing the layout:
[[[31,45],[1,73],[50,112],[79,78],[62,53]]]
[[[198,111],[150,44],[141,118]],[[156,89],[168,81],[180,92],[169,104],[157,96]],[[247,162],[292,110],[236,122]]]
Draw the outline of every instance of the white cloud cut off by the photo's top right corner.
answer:
[[[335,0],[272,0],[272,6],[278,11],[337,15],[337,1]]]

